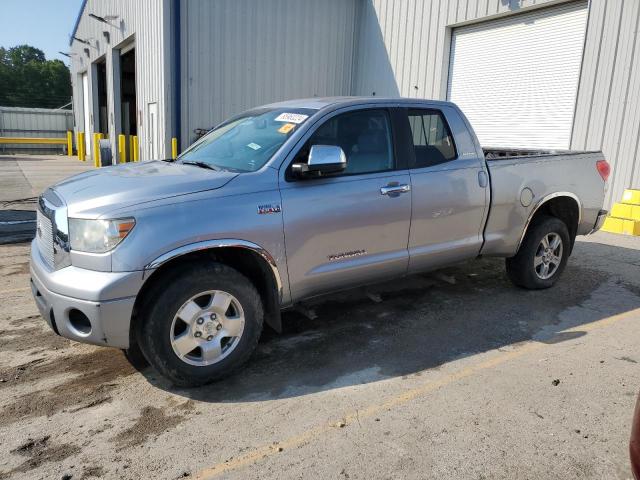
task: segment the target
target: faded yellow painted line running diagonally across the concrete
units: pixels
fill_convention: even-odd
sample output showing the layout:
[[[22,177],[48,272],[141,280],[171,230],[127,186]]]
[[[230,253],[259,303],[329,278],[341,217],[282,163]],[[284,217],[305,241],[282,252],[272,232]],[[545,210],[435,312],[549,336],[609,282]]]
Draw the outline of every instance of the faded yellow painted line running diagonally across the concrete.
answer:
[[[640,315],[640,308],[636,308],[635,310],[630,310],[628,312],[621,313],[618,315],[613,315],[611,317],[603,318],[602,320],[597,320],[589,324],[579,325],[577,327],[564,330],[563,332],[558,332],[558,334],[566,333],[566,332],[576,332],[576,331],[589,332],[592,330],[608,327],[614,323],[617,323],[621,320],[626,320],[636,315]],[[307,442],[315,440],[321,435],[328,433],[330,431],[333,431],[336,428],[339,428],[338,423],[340,421],[345,422],[348,425],[351,422],[359,421],[359,420],[362,420],[363,418],[368,418],[374,415],[378,415],[384,412],[385,410],[388,410],[393,407],[398,407],[400,405],[410,402],[411,400],[417,397],[433,392],[434,390],[437,390],[444,386],[451,385],[452,383],[455,383],[458,380],[462,380],[463,378],[470,377],[473,374],[478,373],[482,370],[487,370],[487,369],[496,367],[509,360],[513,360],[515,358],[521,357],[526,353],[539,350],[545,346],[549,346],[549,345],[546,343],[537,343],[537,342],[523,343],[515,347],[514,350],[510,350],[508,352],[502,352],[494,356],[493,358],[482,361],[476,365],[472,365],[470,367],[463,368],[456,372],[452,372],[442,377],[439,380],[424,383],[419,387],[407,390],[394,397],[391,397],[389,400],[383,403],[373,404],[361,410],[347,412],[346,414],[339,417],[339,419],[313,427],[310,430],[307,430],[306,432],[300,435],[291,436],[275,444],[269,444],[269,445],[263,445],[261,447],[257,447],[245,453],[244,455],[241,455],[239,457],[234,457],[231,460],[228,460],[226,462],[218,463],[211,467],[205,468],[204,470],[201,470],[200,472],[196,473],[194,478],[198,480],[213,478],[223,473],[229,472],[231,470],[238,470],[248,465],[252,465],[267,457],[278,455],[281,451],[284,451],[293,447],[299,447],[301,445],[304,445]]]

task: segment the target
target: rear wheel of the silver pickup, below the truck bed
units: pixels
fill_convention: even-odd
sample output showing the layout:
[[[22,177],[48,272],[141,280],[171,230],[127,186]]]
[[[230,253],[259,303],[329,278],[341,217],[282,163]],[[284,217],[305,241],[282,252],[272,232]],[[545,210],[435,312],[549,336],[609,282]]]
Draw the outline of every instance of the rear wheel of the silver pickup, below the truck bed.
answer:
[[[548,247],[543,244],[545,239]],[[552,248],[557,239],[559,247]],[[506,259],[507,275],[518,287],[529,290],[549,288],[562,274],[570,251],[571,237],[566,224],[556,217],[539,217],[529,227],[515,257]]]

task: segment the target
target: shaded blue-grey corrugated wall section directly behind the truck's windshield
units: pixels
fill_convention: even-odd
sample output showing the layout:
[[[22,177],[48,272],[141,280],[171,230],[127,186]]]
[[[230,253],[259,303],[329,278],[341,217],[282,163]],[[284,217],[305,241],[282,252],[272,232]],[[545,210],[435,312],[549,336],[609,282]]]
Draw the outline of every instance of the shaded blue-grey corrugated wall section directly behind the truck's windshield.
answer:
[[[358,3],[183,0],[183,146],[258,105],[348,95]]]

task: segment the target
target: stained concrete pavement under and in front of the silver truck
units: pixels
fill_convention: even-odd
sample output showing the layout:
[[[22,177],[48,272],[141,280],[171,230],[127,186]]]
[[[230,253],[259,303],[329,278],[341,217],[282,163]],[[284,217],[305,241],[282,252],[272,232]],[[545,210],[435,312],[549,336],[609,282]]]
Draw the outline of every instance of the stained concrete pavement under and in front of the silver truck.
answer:
[[[194,390],[48,331],[27,254],[0,246],[0,479],[631,476],[638,238],[580,238],[545,291],[485,259],[334,295]]]

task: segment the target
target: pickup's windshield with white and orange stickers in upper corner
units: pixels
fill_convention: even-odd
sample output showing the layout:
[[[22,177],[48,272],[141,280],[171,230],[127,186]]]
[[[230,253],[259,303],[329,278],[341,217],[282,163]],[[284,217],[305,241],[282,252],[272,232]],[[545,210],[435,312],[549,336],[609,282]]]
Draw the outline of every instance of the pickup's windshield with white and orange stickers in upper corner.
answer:
[[[216,127],[189,147],[178,163],[213,170],[254,172],[315,113],[302,108],[252,110]]]

